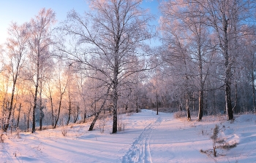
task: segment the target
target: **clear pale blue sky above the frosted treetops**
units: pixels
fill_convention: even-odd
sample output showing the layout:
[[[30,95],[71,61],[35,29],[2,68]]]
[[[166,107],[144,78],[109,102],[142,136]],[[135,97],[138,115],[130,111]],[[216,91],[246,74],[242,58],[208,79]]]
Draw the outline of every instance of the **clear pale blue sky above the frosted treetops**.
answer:
[[[11,22],[18,24],[26,23],[35,17],[40,9],[53,9],[56,12],[56,19],[61,22],[66,19],[67,12],[75,9],[79,13],[88,11],[89,5],[85,0],[7,0],[0,4],[0,44],[7,39],[7,29]],[[149,8],[153,15],[159,15],[158,1],[143,1],[143,8]],[[158,19],[158,18],[157,18]],[[155,20],[157,23],[157,19]]]

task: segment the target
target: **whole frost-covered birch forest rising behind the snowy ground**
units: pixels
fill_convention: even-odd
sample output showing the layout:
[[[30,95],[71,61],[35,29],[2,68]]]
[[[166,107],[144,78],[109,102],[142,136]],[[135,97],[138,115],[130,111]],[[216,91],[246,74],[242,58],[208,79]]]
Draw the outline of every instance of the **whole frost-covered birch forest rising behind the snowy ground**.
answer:
[[[57,23],[53,9],[10,23],[0,46],[0,127],[28,132],[121,110],[255,114],[256,1],[88,0]],[[159,40],[154,45],[153,40]]]

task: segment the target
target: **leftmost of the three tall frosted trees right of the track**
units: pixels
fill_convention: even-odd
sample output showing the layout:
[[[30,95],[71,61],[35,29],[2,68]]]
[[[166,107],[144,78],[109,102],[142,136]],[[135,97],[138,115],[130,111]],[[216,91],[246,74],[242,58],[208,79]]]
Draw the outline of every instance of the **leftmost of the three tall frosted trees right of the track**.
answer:
[[[167,3],[168,4],[168,3]],[[162,12],[164,17],[161,17],[160,31],[162,32],[162,41],[164,50],[162,50],[162,60],[170,64],[172,76],[181,76],[181,80],[178,81],[179,87],[184,94],[186,100],[187,119],[191,119],[189,111],[189,93],[192,90],[192,58],[189,54],[189,32],[187,31],[186,23],[182,23],[181,20],[177,20],[176,10],[170,10],[168,7],[173,5],[165,3],[162,4]],[[166,8],[164,8],[166,7]],[[170,13],[169,13],[170,11]],[[181,95],[183,96],[183,95]]]

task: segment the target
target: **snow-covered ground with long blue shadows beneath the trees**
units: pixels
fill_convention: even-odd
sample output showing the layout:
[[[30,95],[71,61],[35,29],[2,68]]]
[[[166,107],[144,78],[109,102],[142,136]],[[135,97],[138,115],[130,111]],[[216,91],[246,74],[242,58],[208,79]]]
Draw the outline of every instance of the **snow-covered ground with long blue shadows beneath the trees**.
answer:
[[[10,133],[0,143],[0,162],[256,162],[256,116],[204,116],[174,119],[173,114],[142,110],[138,114],[121,115],[124,131],[110,134],[111,122],[105,132],[89,132],[88,124],[73,124],[56,130]],[[230,149],[217,148],[212,156],[211,135],[219,125],[219,138]],[[67,130],[64,137],[61,130]],[[217,144],[219,146],[219,144]],[[200,150],[207,151],[206,153]]]

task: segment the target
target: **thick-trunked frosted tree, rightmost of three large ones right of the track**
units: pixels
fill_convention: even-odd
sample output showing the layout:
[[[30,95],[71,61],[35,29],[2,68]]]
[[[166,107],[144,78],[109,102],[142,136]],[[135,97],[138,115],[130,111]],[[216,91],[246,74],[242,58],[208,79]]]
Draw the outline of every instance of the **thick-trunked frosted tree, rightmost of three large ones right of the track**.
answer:
[[[236,44],[241,36],[242,26],[255,13],[255,1],[251,0],[209,0],[195,1],[200,6],[200,13],[206,17],[207,24],[214,29],[218,38],[219,50],[224,59],[225,109],[227,120],[233,119],[231,103],[232,65],[237,53],[230,53],[230,45]],[[240,34],[239,34],[240,33]]]

